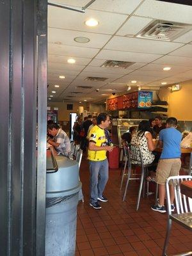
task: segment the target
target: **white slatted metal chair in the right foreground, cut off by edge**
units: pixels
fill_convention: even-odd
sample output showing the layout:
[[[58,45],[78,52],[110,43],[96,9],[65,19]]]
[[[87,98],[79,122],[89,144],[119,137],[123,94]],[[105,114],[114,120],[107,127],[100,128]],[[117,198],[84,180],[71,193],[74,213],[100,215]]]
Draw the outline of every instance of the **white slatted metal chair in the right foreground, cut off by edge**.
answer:
[[[166,237],[164,240],[163,256],[167,256],[168,242],[170,237],[170,231],[172,228],[172,221],[176,221],[179,225],[182,225],[188,230],[192,230],[192,199],[180,192],[180,182],[184,180],[192,180],[192,176],[173,176],[166,180],[166,202],[168,221],[166,227]],[[170,201],[170,186],[173,184],[175,193],[175,211],[172,213],[171,201]],[[192,252],[182,253],[179,255],[192,255]]]

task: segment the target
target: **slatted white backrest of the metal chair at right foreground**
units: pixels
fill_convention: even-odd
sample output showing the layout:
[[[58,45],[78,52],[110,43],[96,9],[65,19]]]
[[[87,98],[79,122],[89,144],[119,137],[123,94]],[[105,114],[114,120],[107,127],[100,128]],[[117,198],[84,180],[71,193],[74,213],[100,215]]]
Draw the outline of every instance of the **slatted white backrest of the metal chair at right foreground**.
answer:
[[[182,194],[180,192],[180,182],[184,180],[192,180],[192,176],[189,175],[180,175],[180,176],[172,176],[166,180],[166,198],[167,198],[167,206],[168,206],[168,216],[172,214],[171,211],[171,200],[170,200],[170,184],[174,186],[175,193],[175,206],[177,214],[184,212],[192,212],[192,198]]]

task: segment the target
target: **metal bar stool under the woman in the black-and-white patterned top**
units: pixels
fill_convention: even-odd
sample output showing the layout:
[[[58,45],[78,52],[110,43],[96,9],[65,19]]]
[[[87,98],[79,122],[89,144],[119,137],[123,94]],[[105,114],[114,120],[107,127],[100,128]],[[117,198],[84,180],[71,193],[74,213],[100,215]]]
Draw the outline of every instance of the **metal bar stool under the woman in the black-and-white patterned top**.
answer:
[[[139,206],[140,206],[140,198],[141,198],[142,188],[143,188],[143,197],[145,196],[145,176],[148,171],[147,168],[149,166],[152,166],[152,164],[143,164],[143,157],[141,154],[140,147],[138,145],[129,144],[128,147],[125,148],[125,150],[127,153],[128,172],[127,172],[127,183],[125,186],[123,201],[125,201],[129,180],[140,179],[140,188],[139,188],[138,200],[137,200],[137,204],[136,204],[136,211],[138,211]],[[136,166],[140,166],[140,168],[141,168],[141,177],[140,178],[131,177],[132,167],[136,167]],[[124,179],[124,176],[122,177],[122,180],[123,179]],[[148,188],[148,186],[147,186],[147,188]],[[148,195],[148,191],[147,191],[147,195]]]

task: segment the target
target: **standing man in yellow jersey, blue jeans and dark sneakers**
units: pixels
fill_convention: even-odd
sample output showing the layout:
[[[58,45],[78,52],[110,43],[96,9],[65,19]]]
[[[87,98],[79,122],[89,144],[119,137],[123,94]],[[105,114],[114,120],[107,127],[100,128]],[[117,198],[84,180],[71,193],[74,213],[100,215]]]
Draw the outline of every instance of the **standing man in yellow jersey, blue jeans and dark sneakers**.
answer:
[[[108,159],[106,152],[111,152],[113,147],[108,145],[104,129],[110,124],[109,116],[106,113],[100,113],[97,117],[97,125],[90,131],[88,159],[90,163],[90,206],[94,209],[100,209],[101,202],[108,202],[108,199],[102,195],[106,183],[108,182]]]

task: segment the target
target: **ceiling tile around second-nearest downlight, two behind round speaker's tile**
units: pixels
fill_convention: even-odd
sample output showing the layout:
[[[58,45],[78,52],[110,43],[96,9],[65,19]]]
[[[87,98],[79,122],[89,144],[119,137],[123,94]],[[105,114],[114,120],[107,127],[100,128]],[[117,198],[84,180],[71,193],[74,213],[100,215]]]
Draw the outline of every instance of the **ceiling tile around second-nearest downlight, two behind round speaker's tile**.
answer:
[[[68,56],[61,56],[61,55],[54,55],[49,54],[48,55],[48,62],[56,62],[56,63],[63,63],[68,64]],[[76,57],[76,63],[73,65],[88,65],[88,63],[91,61],[91,58],[78,58]]]

